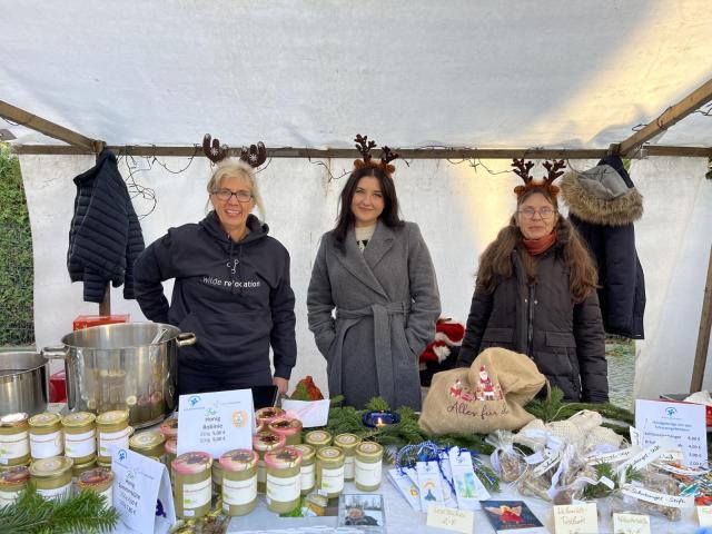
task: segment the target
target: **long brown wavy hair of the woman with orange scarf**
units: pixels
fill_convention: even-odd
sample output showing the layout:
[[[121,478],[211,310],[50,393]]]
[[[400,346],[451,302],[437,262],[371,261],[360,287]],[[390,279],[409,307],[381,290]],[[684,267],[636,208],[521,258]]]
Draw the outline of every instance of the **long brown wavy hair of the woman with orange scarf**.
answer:
[[[517,208],[532,194],[544,195],[554,208],[557,208],[556,198],[543,189],[534,189],[522,195],[517,201]],[[599,273],[591,259],[591,255],[575,228],[568,220],[557,215],[556,234],[561,249],[557,251],[562,261],[568,267],[568,290],[574,303],[581,303],[591,295],[597,287]],[[536,264],[528,253],[523,250],[522,231],[516,226],[515,216],[510,219],[508,226],[500,230],[496,239],[492,241],[479,258],[479,269],[477,271],[477,290],[486,294],[494,293],[501,280],[513,276],[512,250],[517,250],[524,268],[526,269],[530,283],[536,280]]]

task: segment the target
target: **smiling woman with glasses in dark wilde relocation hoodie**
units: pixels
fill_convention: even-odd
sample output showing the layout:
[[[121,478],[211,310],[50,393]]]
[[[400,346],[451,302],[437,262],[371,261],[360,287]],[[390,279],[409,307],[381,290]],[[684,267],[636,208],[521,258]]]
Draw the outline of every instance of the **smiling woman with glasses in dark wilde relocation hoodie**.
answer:
[[[136,298],[150,320],[196,334],[180,349],[179,394],[269,384],[285,393],[297,355],[289,254],[251,214],[265,210],[250,166],[222,161],[207,189],[207,217],[170,228],[137,259]]]

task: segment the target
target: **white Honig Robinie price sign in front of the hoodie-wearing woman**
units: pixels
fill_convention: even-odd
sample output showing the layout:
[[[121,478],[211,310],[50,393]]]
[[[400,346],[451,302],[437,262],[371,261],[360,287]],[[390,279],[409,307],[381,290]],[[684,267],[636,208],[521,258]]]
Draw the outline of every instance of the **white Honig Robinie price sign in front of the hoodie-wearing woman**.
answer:
[[[253,393],[249,389],[181,395],[178,454],[202,451],[214,458],[233,448],[253,448]]]

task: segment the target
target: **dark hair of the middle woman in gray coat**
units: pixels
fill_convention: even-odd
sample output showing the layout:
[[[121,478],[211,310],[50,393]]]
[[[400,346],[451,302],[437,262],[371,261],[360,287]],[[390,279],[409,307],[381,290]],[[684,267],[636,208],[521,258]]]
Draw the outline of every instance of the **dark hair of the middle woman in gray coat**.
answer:
[[[378,180],[380,192],[383,194],[384,208],[378,218],[389,227],[403,226],[403,221],[398,217],[398,197],[396,196],[396,186],[393,178],[386,175],[382,169],[374,167],[363,167],[352,172],[346,180],[344,189],[342,189],[340,200],[338,205],[338,215],[336,216],[336,226],[332,230],[332,236],[336,239],[336,246],[344,250],[344,241],[346,241],[346,233],[349,225],[354,224],[354,214],[352,214],[352,200],[358,180],[365,176],[373,176]]]

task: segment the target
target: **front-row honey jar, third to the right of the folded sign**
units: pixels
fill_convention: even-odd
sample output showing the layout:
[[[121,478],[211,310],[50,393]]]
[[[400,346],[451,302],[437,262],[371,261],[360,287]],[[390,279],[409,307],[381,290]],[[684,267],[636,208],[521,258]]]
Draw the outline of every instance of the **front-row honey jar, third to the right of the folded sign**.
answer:
[[[265,454],[267,466],[267,507],[286,514],[297,507],[301,498],[301,453],[284,447]]]

